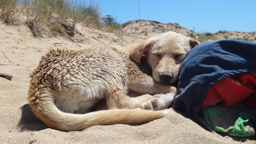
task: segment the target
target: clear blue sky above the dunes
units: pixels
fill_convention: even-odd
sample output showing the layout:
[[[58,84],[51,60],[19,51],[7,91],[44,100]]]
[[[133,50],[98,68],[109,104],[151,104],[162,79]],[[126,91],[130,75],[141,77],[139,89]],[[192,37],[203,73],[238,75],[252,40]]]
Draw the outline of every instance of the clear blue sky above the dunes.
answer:
[[[178,23],[190,30],[195,27],[197,33],[256,31],[256,0],[95,0],[96,3],[100,3],[104,16],[113,15],[120,23],[155,20]]]

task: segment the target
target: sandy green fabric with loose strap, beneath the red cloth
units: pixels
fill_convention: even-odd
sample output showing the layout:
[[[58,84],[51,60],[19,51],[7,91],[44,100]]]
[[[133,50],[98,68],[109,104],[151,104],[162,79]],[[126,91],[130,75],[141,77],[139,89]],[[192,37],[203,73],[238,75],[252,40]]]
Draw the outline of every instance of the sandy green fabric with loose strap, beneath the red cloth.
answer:
[[[239,112],[239,108],[244,109],[244,105],[202,109],[205,122],[216,132],[224,132],[230,136],[253,137],[255,135],[255,119],[244,113]],[[249,113],[255,114],[256,109],[250,109]],[[246,111],[247,112],[247,111]]]

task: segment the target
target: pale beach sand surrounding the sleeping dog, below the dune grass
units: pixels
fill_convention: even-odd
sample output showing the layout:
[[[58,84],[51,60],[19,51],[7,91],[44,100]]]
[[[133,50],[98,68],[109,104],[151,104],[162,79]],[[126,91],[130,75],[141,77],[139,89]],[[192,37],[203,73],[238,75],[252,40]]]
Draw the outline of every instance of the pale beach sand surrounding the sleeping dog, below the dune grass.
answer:
[[[0,64],[11,64],[0,65],[0,73],[12,75],[11,81],[0,77],[0,143],[256,143],[253,139],[209,132],[175,111],[143,124],[97,125],[75,132],[48,128],[31,114],[27,101],[29,73],[36,68],[42,55],[50,48],[79,50],[104,44],[126,46],[144,38],[119,36],[81,26],[77,28],[85,37],[83,43],[46,35],[33,38],[25,25],[0,23],[0,50],[11,61],[21,65],[10,63],[0,52]]]

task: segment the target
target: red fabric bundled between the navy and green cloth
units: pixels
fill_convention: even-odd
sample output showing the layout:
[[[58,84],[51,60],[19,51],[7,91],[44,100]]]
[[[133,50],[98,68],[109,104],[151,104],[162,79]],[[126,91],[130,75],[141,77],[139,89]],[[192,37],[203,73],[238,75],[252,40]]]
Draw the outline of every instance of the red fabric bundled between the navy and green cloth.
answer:
[[[223,101],[224,107],[243,102],[248,107],[256,108],[256,72],[236,74],[213,84],[196,112],[213,107],[220,101]]]

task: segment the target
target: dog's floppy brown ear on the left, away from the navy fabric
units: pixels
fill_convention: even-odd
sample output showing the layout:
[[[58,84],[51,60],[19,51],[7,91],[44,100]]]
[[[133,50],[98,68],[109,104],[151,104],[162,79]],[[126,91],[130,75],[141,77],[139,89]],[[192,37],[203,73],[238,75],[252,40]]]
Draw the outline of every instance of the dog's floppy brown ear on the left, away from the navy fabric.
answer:
[[[142,55],[148,52],[148,48],[151,46],[152,42],[153,40],[148,40],[135,45],[130,51],[129,56],[136,62],[140,63]]]

